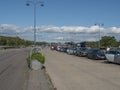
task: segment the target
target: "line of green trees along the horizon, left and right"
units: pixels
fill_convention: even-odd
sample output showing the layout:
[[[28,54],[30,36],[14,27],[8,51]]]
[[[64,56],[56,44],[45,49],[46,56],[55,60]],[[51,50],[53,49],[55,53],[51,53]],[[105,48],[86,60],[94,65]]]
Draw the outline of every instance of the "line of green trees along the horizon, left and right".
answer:
[[[21,39],[20,37],[6,37],[0,36],[0,46],[30,46],[34,42],[30,40]],[[37,45],[46,45],[47,42],[36,42]],[[86,41],[86,46],[91,48],[97,48],[99,46],[99,41]],[[107,47],[120,47],[120,41],[117,41],[114,36],[103,36],[100,40],[100,48]]]

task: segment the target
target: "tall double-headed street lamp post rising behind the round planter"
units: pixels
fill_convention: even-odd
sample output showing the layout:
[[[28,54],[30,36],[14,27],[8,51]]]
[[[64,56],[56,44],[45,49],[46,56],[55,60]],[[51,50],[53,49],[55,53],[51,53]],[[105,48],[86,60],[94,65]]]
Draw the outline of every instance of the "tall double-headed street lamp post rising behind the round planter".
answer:
[[[30,4],[33,4],[34,6],[34,46],[36,46],[36,6],[40,4],[41,7],[44,6],[42,1],[37,0],[27,0],[26,6],[30,6]]]

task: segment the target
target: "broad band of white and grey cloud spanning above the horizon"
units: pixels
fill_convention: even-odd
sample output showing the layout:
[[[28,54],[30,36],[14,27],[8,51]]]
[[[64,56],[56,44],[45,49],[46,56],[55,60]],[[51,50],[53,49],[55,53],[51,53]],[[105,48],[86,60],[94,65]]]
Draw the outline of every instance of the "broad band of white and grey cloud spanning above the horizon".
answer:
[[[99,26],[37,26],[37,40],[45,41],[96,41],[99,40],[99,30],[101,37],[104,35],[115,35],[120,40],[120,28],[103,28]],[[0,35],[13,35],[19,33],[22,38],[33,40],[33,26],[19,27],[10,24],[0,25]]]

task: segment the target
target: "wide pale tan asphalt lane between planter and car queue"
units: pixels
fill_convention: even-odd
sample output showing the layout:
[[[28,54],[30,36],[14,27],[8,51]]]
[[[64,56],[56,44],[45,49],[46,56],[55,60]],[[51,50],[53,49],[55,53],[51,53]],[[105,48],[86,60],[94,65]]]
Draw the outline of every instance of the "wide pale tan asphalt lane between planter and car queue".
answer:
[[[120,65],[43,50],[57,90],[120,90]]]

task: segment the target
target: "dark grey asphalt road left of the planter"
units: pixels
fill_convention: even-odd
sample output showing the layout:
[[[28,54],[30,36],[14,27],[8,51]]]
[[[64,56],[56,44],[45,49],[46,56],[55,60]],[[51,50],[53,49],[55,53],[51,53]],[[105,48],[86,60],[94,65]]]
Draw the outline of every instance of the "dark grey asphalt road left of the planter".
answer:
[[[22,90],[28,49],[0,50],[0,90]]]

